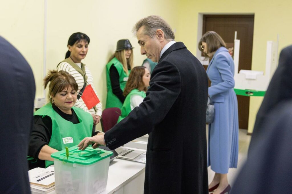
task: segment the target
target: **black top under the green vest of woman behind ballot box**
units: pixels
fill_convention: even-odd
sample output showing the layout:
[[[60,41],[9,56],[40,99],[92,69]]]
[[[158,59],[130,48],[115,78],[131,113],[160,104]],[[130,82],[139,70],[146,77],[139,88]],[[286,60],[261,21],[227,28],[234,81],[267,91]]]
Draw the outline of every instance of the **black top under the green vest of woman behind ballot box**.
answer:
[[[57,106],[53,104],[53,109],[56,111],[63,119],[72,122],[73,124],[79,123],[79,119],[72,110],[72,115],[66,114],[62,112]],[[35,115],[34,116],[34,123],[32,127],[32,134],[30,136],[29,141],[29,150],[28,150],[28,156],[33,157],[34,159],[39,159],[39,152],[41,151],[41,148],[44,145],[48,145],[48,143],[51,140],[52,136],[52,120],[49,116],[42,116]],[[96,135],[98,132],[92,132],[92,136]],[[40,160],[37,162],[36,165],[33,165],[35,167],[45,167],[45,162],[43,160]],[[29,164],[30,169],[32,169],[32,164]]]

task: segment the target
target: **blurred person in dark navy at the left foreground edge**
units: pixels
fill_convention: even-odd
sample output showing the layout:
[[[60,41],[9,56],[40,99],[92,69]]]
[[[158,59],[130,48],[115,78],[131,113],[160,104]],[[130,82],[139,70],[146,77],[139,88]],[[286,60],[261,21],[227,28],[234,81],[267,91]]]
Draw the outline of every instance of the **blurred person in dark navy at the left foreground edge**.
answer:
[[[0,37],[0,193],[30,193],[27,151],[35,83],[23,56]]]

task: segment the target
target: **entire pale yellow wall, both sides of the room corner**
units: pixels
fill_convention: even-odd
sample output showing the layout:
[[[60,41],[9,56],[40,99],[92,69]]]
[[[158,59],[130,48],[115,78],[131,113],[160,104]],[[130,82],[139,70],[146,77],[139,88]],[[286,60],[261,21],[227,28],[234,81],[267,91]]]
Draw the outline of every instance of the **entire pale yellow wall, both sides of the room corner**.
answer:
[[[11,42],[27,59],[34,72],[36,97],[43,97],[44,0],[0,2],[0,35]],[[292,42],[291,0],[246,1],[118,1],[48,0],[46,31],[46,71],[54,69],[67,51],[69,36],[77,31],[91,38],[83,61],[90,68],[98,95],[105,105],[105,64],[116,42],[128,38],[135,47],[134,64],[141,65],[139,45],[131,30],[135,22],[148,15],[160,15],[175,31],[175,40],[183,41],[196,55],[199,13],[254,13],[252,70],[265,66],[266,42],[280,35],[279,50]],[[262,98],[251,97],[248,130],[253,128]]]

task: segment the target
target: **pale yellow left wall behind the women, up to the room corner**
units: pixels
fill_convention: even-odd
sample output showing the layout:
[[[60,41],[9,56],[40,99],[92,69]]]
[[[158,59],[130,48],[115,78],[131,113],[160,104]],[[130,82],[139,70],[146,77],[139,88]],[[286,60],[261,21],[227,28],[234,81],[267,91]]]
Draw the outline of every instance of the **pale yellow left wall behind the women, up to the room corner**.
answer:
[[[132,33],[135,23],[148,15],[160,15],[175,27],[176,1],[136,0],[48,0],[46,30],[46,72],[65,57],[69,36],[77,31],[90,39],[85,63],[94,78],[94,86],[105,108],[105,65],[119,39],[128,38],[135,49],[134,65],[146,58],[140,54]],[[31,65],[36,81],[36,97],[43,97],[44,0],[10,0],[0,2],[0,35],[11,42]],[[98,126],[100,129],[100,126]]]

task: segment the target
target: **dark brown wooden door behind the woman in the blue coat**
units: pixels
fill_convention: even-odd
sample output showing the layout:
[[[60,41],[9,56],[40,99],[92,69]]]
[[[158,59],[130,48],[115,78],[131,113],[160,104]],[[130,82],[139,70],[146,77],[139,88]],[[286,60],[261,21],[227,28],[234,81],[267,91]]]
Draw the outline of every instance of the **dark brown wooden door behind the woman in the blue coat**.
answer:
[[[240,40],[239,67],[251,70],[253,49],[254,15],[204,15],[203,34],[207,31],[217,32],[226,42],[227,47],[234,45],[234,32]],[[206,67],[205,67],[206,68]],[[248,128],[249,97],[237,95],[239,128]]]

